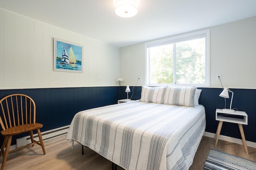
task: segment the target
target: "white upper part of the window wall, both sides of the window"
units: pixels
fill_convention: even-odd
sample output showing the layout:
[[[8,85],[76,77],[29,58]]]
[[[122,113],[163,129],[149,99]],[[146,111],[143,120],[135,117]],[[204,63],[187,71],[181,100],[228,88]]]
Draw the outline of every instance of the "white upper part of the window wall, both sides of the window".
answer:
[[[145,84],[145,43],[120,48],[122,85]],[[256,89],[255,63],[256,17],[210,27],[210,87]]]

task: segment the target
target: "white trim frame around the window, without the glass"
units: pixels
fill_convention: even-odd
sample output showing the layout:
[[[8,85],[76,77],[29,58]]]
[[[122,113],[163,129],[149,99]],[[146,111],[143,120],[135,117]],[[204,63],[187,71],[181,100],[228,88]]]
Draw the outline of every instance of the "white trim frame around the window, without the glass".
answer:
[[[197,86],[197,87],[210,87],[210,29],[204,29],[200,31],[194,31],[190,33],[183,33],[180,35],[174,35],[171,37],[163,38],[163,39],[158,39],[156,41],[150,41],[148,43],[145,43],[144,49],[145,49],[145,83],[147,86],[167,86],[170,84],[150,84],[149,83],[149,59],[147,56],[147,48],[148,47],[154,47],[156,45],[160,44],[167,44],[171,43],[172,41],[176,41],[180,39],[180,41],[185,41],[186,39],[190,39],[191,37],[197,37],[198,35],[206,35],[206,68],[205,68],[205,75],[206,75],[206,80],[205,84],[171,84],[173,86]]]

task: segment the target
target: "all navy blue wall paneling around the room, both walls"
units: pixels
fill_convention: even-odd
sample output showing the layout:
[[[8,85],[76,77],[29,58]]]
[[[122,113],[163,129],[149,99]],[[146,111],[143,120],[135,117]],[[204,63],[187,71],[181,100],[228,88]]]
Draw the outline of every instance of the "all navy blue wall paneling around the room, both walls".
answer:
[[[133,86],[130,86],[129,98],[132,96],[132,88]],[[0,98],[14,93],[27,94],[32,97],[36,102],[36,120],[44,125],[41,131],[48,131],[70,125],[74,115],[79,111],[117,104],[118,100],[127,98],[125,89],[126,86],[0,90]],[[215,120],[215,110],[216,108],[222,109],[225,105],[224,98],[219,96],[222,88],[201,89],[199,104],[205,107],[206,131],[216,133],[218,121]],[[246,140],[256,142],[256,90],[230,90],[234,92],[232,108],[237,108],[248,114],[248,125],[243,125]],[[131,99],[139,100],[140,93],[141,86],[135,86]],[[226,101],[226,108],[228,108],[230,99],[226,99]],[[234,123],[224,122],[220,134],[241,139],[238,125]],[[15,144],[15,139],[20,137],[22,136],[14,138],[12,145]],[[2,143],[2,136],[0,140],[0,143]]]

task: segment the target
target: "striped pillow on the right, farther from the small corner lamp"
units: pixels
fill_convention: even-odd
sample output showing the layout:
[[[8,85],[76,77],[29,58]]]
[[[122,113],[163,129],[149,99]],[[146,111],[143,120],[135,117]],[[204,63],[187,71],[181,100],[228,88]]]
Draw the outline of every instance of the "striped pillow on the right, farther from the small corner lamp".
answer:
[[[196,87],[192,86],[168,86],[164,98],[164,104],[194,107]]]

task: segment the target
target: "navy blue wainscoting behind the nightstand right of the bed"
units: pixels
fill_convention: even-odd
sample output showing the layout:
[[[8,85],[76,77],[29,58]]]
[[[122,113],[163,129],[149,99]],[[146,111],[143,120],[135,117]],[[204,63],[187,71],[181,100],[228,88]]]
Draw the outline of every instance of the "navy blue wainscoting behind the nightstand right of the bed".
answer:
[[[234,92],[232,109],[245,111],[248,115],[248,125],[243,125],[246,141],[256,142],[256,90],[255,89],[230,89]],[[224,98],[219,94],[222,88],[202,88],[199,104],[205,107],[206,111],[206,132],[216,133],[218,121],[215,120],[216,108],[225,107]],[[230,106],[230,98],[226,99],[226,108]],[[220,135],[242,139],[238,125],[235,123],[223,122]]]

